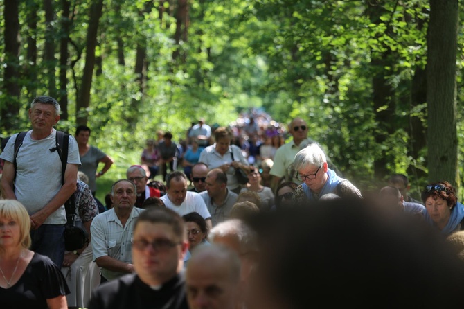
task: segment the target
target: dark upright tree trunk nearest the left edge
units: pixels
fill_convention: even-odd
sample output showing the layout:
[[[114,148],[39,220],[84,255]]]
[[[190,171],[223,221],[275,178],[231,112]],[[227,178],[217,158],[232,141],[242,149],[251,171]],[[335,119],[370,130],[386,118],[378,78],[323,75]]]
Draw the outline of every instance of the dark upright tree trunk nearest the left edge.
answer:
[[[5,71],[3,73],[3,100],[1,105],[1,125],[3,130],[15,127],[19,114],[19,1],[5,1]]]

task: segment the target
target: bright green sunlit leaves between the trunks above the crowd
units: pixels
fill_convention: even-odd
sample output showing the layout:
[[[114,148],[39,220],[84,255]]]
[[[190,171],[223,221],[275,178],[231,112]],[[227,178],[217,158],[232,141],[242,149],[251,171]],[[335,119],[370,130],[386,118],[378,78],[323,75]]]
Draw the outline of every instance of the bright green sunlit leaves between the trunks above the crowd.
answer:
[[[0,14],[4,1],[0,0]],[[37,30],[27,22],[32,3],[40,6]],[[65,18],[61,1],[53,4],[56,21]],[[71,4],[72,67],[67,86],[71,116],[59,127],[73,132],[91,1]],[[304,118],[310,137],[325,145],[346,177],[357,179],[365,188],[375,185],[373,165],[382,156],[393,158],[386,166],[391,173],[407,173],[411,167],[427,172],[427,152],[421,150],[418,157],[409,154],[409,131],[411,117],[427,125],[426,103],[411,106],[411,84],[416,69],[424,69],[427,63],[428,1],[203,0],[189,1],[189,5],[188,36],[177,45],[173,39],[176,1],[163,1],[161,16],[159,1],[105,1],[96,51],[102,59],[102,73],[93,77],[91,102],[84,112],[89,113],[88,125],[93,129],[91,143],[114,157],[118,166],[138,163],[143,142],[157,130],[170,130],[176,140],[184,139],[190,123],[199,117],[211,124],[229,125],[240,111],[264,107],[281,123],[296,116]],[[21,1],[19,19],[19,66],[37,72],[35,80],[19,80],[22,110],[16,122],[26,128],[28,102],[35,95],[26,89],[36,94],[47,91],[42,3]],[[59,22],[53,27],[58,57],[63,33]],[[5,28],[3,19],[0,28]],[[462,31],[459,35],[461,102]],[[37,39],[35,66],[28,63],[26,37]],[[3,37],[0,44],[4,45]],[[137,45],[146,51],[143,93],[134,73]],[[180,54],[177,60],[172,57],[175,51]],[[124,65],[119,63],[119,52]],[[387,52],[387,64],[373,65],[373,59]],[[0,60],[4,66],[3,50]],[[382,108],[373,105],[372,78],[379,72],[395,89],[390,98],[394,117],[388,123],[393,133],[376,121]],[[1,93],[0,104],[7,100]],[[461,109],[458,105],[458,137],[464,134]],[[1,130],[4,136],[10,133]],[[375,134],[386,134],[386,141],[377,144]]]

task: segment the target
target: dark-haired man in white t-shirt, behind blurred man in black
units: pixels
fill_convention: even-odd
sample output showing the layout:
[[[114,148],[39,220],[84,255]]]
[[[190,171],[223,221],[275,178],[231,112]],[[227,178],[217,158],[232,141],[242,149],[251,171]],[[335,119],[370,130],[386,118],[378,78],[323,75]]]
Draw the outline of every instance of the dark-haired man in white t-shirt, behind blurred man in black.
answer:
[[[211,229],[211,215],[206,204],[198,193],[187,190],[187,176],[184,173],[175,171],[166,177],[166,195],[163,195],[161,200],[167,208],[181,216],[187,213],[199,213],[206,220],[208,229]]]

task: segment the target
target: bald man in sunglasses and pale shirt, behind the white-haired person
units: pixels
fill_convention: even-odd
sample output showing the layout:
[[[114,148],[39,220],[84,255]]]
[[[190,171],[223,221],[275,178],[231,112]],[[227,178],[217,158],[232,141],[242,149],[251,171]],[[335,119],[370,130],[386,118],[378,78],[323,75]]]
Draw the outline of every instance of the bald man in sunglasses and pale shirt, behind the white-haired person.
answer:
[[[294,118],[289,124],[288,132],[292,134],[293,140],[278,148],[274,156],[274,165],[270,172],[272,175],[271,188],[274,192],[283,178],[287,182],[301,184],[301,181],[296,179],[294,160],[295,155],[300,151],[301,143],[307,139],[307,124],[301,118]]]

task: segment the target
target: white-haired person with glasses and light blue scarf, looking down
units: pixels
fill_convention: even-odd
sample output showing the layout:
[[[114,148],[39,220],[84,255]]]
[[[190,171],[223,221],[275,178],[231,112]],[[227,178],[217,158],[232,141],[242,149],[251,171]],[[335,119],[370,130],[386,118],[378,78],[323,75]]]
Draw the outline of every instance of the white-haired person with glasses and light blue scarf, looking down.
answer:
[[[346,179],[328,168],[327,159],[317,143],[307,145],[295,156],[296,177],[300,182],[293,195],[298,202],[317,201],[323,195],[334,193],[339,197],[359,197],[361,192]]]

